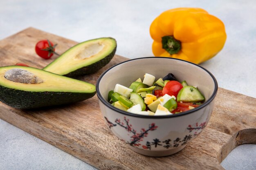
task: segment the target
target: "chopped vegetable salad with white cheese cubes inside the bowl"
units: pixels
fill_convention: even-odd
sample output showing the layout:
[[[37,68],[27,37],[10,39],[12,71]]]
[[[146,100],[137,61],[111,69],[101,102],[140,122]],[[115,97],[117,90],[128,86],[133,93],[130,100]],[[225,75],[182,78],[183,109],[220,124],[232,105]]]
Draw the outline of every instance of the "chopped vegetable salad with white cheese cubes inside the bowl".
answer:
[[[129,87],[116,84],[108,93],[112,106],[139,115],[172,115],[196,108],[205,98],[196,86],[178,82],[172,73],[155,79],[146,73]]]

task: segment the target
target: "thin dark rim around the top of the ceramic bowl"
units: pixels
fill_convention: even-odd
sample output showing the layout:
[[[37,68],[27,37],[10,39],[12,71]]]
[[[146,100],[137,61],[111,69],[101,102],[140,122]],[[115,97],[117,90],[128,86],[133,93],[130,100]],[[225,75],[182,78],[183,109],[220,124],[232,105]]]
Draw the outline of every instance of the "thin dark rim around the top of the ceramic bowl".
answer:
[[[123,64],[123,63],[126,63],[126,62],[130,62],[130,61],[133,61],[133,60],[143,60],[144,58],[155,58],[155,59],[158,59],[158,58],[164,58],[166,60],[180,60],[180,59],[177,59],[177,58],[169,58],[169,57],[141,57],[141,58],[135,58],[135,59],[131,59],[131,60],[126,60],[124,62],[121,62],[121,63],[118,63],[110,68],[108,68],[106,71],[104,71],[100,76],[99,76],[99,79],[97,80],[97,84],[96,84],[96,93],[97,93],[97,96],[98,98],[101,100],[101,102],[107,106],[108,108],[112,109],[112,110],[115,110],[117,111],[118,113],[121,113],[123,115],[128,115],[128,116],[132,116],[132,117],[140,117],[140,118],[147,118],[147,119],[163,119],[163,118],[171,118],[171,117],[179,117],[179,116],[184,116],[184,115],[188,115],[190,113],[193,113],[197,110],[200,110],[201,108],[204,108],[205,106],[207,106],[209,103],[211,103],[211,101],[216,97],[216,94],[217,94],[217,91],[218,91],[218,83],[217,83],[217,80],[216,78],[205,68],[203,68],[202,66],[198,65],[198,64],[194,64],[192,62],[188,62],[188,61],[185,61],[185,60],[180,60],[182,62],[187,62],[189,64],[193,64],[195,66],[198,66],[200,68],[202,68],[204,71],[206,71],[213,79],[213,82],[214,82],[214,91],[213,91],[213,94],[211,95],[211,97],[206,101],[204,102],[202,105],[196,107],[196,108],[193,108],[191,110],[188,110],[184,113],[177,113],[177,114],[173,114],[173,115],[162,115],[162,116],[150,116],[150,115],[139,115],[139,114],[134,114],[134,113],[130,113],[130,112],[126,112],[124,110],[121,110],[119,108],[116,108],[114,106],[112,106],[109,102],[107,102],[103,96],[100,94],[99,92],[99,82],[101,81],[101,78],[109,71],[111,70],[112,68],[120,65],[120,64]]]

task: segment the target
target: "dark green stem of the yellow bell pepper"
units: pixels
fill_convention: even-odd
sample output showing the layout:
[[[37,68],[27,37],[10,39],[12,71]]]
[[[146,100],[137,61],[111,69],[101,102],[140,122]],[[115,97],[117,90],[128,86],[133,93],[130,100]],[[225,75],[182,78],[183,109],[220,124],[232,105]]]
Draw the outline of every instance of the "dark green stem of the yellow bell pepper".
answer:
[[[181,42],[176,40],[172,35],[162,37],[162,48],[168,53],[177,54],[181,49]]]

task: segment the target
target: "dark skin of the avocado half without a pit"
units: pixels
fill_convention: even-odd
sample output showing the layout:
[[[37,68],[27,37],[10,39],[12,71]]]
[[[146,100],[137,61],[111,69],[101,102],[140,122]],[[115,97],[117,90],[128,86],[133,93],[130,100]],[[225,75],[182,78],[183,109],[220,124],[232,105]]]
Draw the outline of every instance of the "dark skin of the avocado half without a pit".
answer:
[[[75,76],[78,76],[78,75],[87,75],[87,74],[95,73],[99,69],[101,69],[103,66],[106,66],[110,62],[110,60],[114,57],[114,55],[116,53],[116,50],[117,50],[117,46],[115,47],[115,49],[109,55],[107,55],[103,59],[101,59],[101,60],[99,60],[99,61],[97,61],[93,64],[90,64],[88,66],[79,68],[79,69],[77,69],[75,71],[72,71],[72,72],[70,72],[66,75],[63,75],[63,76],[75,77]]]

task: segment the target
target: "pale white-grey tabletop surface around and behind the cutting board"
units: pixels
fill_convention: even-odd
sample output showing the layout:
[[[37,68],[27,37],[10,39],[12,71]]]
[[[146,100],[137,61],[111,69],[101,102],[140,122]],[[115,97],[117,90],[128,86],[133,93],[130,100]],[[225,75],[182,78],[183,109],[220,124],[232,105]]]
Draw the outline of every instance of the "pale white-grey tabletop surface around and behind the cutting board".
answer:
[[[78,42],[111,36],[117,40],[119,55],[128,58],[152,56],[149,26],[161,12],[175,7],[201,7],[225,23],[227,41],[224,49],[200,65],[213,73],[220,87],[256,97],[255,0],[180,0],[175,3],[170,0],[1,0],[0,39],[33,26]],[[239,149],[234,152],[235,157],[249,159],[250,153],[256,153],[255,145],[240,147],[248,147],[252,152],[243,153]],[[231,157],[227,159],[229,163],[222,163],[222,166],[235,169],[239,163],[250,169],[253,166],[246,161],[248,159],[237,161]],[[2,120],[0,160],[0,169],[91,167]]]

